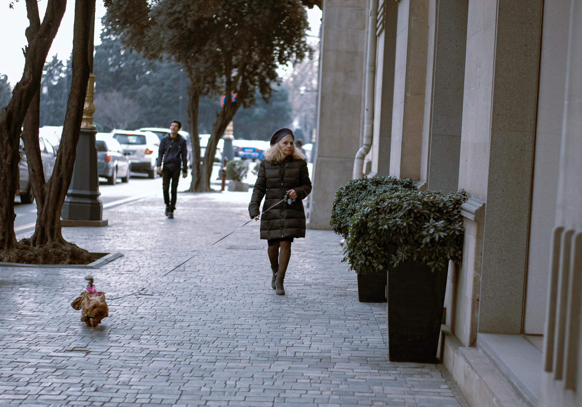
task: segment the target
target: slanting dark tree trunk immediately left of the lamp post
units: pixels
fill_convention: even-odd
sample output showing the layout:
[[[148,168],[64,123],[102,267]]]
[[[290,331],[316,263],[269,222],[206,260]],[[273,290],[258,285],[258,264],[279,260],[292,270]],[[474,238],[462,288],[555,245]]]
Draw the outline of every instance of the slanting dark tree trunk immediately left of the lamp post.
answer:
[[[47,183],[44,205],[38,208],[36,229],[30,238],[31,246],[44,246],[48,243],[71,246],[62,236],[61,210],[73,176],[81,119],[83,119],[83,107],[90,72],[87,44],[94,7],[95,0],[75,1],[71,90],[67,101],[65,123],[63,124],[63,134],[55,168]]]

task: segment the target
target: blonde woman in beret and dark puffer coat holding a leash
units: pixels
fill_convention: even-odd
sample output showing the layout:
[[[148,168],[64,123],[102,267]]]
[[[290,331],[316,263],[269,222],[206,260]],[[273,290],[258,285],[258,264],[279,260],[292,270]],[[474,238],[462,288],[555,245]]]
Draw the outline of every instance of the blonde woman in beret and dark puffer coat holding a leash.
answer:
[[[259,206],[263,197],[263,210],[285,198],[286,194],[293,200],[290,204],[283,201],[261,217],[261,239],[267,239],[271,287],[277,290],[277,295],[285,295],[283,280],[291,257],[293,238],[305,237],[302,200],[311,192],[305,155],[293,146],[294,138],[288,128],[273,133],[271,148],[265,151],[249,203],[249,214],[254,218],[261,213]]]

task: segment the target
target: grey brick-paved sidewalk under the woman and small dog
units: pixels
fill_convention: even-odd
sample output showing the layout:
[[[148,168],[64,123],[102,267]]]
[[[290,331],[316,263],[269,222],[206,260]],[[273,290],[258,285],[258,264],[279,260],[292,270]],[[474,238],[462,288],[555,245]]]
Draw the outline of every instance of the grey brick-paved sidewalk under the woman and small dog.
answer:
[[[109,317],[84,326],[70,302],[84,270],[0,268],[0,404],[91,406],[467,406],[442,366],[389,362],[384,304],[357,300],[338,236],[296,239],[286,296],[270,288],[249,193],[161,193],[65,228],[92,252]],[[19,236],[23,237],[23,236]],[[194,256],[190,259],[191,256]],[[178,267],[166,277],[166,272]]]

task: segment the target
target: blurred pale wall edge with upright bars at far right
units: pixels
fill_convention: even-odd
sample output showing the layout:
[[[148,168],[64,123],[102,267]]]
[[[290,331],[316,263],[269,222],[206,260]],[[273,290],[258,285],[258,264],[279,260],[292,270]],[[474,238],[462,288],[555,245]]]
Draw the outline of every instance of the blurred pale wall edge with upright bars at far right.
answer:
[[[559,261],[550,268],[540,405],[574,407],[582,405],[582,3],[547,3],[567,10],[562,21],[570,24],[556,200],[559,239],[551,250]]]

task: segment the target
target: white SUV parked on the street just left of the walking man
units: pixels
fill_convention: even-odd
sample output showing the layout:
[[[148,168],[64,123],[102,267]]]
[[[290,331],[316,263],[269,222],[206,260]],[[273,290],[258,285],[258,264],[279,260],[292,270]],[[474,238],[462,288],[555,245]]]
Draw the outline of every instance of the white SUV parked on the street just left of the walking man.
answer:
[[[119,141],[125,153],[129,153],[132,171],[145,172],[148,178],[156,178],[155,160],[158,159],[159,138],[152,132],[113,130],[113,138]]]

